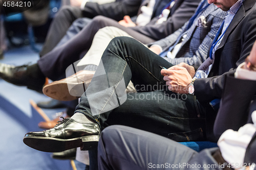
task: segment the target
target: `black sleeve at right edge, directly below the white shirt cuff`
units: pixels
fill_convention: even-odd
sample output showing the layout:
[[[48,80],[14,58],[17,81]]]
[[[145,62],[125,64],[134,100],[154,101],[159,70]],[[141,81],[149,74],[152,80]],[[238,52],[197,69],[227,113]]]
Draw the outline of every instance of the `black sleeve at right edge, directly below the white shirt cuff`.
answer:
[[[224,86],[214,124],[214,134],[218,138],[226,130],[238,131],[247,123],[250,103],[256,92],[256,81],[236,79],[233,74],[227,75]]]

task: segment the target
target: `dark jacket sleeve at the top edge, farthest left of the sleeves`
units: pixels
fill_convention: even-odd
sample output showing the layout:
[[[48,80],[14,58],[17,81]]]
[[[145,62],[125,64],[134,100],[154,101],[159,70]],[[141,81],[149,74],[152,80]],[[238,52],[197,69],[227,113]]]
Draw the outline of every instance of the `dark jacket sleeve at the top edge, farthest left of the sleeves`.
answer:
[[[123,0],[113,3],[101,4],[87,2],[82,9],[83,16],[93,18],[103,15],[117,21],[123,19],[124,15],[135,16],[138,13],[141,0]]]

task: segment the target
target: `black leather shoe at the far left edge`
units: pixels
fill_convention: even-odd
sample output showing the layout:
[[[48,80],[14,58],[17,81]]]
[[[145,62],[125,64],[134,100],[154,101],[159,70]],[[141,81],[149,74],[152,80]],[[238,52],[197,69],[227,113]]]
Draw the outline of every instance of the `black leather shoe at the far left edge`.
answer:
[[[17,86],[27,86],[32,90],[42,91],[46,78],[33,76],[36,71],[33,74],[29,74],[28,66],[13,66],[0,63],[0,78]]]

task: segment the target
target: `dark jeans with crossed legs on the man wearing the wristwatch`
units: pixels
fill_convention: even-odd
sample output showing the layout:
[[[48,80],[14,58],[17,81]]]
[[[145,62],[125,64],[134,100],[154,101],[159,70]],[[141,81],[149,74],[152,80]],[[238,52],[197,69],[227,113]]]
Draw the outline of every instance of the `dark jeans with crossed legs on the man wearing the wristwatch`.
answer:
[[[75,112],[94,119],[102,130],[110,125],[125,125],[177,141],[205,139],[204,107],[195,96],[177,94],[166,88],[159,65],[169,68],[173,66],[171,63],[133,38],[116,37],[103,53],[102,64],[103,68],[99,66],[96,70]],[[111,77],[113,73],[115,76]],[[102,79],[97,79],[100,76]],[[93,115],[89,96],[95,97],[94,107],[111,106],[110,98],[104,95],[118,92],[114,88],[106,92],[104,87],[117,87],[122,78],[126,86],[132,80],[138,93],[127,94],[126,101],[119,103],[119,107]]]

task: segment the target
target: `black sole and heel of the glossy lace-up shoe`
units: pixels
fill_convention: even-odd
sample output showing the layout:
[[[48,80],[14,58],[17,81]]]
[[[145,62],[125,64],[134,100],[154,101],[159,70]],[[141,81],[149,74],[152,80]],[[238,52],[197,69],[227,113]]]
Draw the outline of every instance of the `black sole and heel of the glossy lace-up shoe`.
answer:
[[[98,147],[99,135],[78,137],[73,139],[57,139],[51,137],[24,137],[23,142],[29,147],[42,152],[62,152],[80,147],[82,151],[94,150]]]

